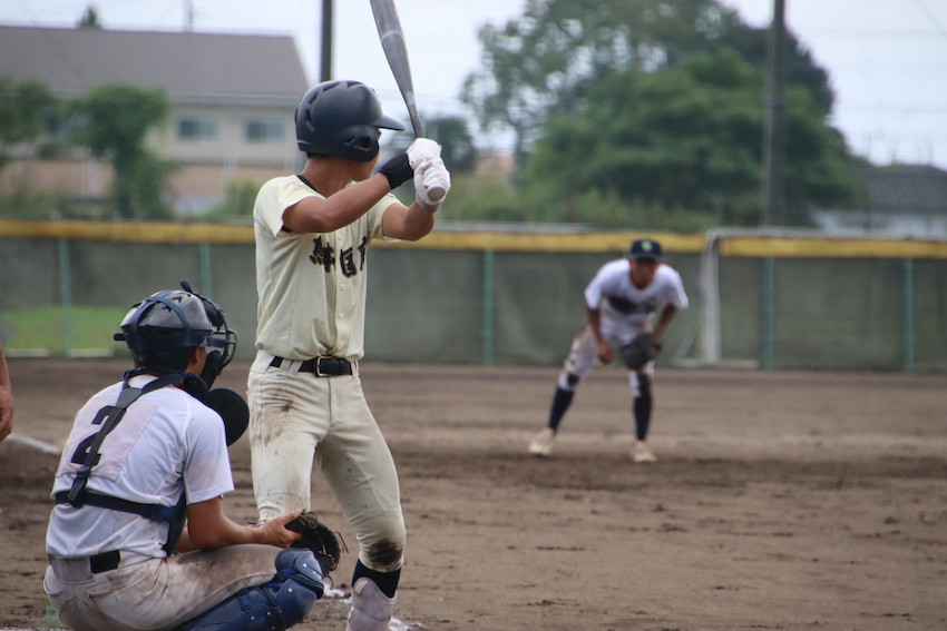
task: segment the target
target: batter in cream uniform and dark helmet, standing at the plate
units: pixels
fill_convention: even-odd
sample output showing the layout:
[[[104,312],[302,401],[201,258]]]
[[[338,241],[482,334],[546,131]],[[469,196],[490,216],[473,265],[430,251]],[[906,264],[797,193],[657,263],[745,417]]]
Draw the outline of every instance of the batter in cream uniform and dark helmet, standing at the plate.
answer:
[[[256,235],[256,359],[247,378],[253,487],[260,521],[309,509],[313,462],[355,532],[349,631],[388,629],[406,533],[394,462],[359,379],[367,255],[373,239],[417,240],[431,231],[450,188],[440,147],[416,140],[379,160],[385,116],[374,90],[328,81],[295,114],[302,172],[263,185]],[[413,178],[402,205],[391,190]]]

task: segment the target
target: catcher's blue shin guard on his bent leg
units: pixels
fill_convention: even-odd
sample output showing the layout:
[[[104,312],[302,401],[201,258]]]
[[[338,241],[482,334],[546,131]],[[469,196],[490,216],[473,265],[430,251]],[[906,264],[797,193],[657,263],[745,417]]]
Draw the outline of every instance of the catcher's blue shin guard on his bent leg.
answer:
[[[323,589],[312,552],[283,550],[272,581],[241,590],[175,631],[285,631],[306,617]]]

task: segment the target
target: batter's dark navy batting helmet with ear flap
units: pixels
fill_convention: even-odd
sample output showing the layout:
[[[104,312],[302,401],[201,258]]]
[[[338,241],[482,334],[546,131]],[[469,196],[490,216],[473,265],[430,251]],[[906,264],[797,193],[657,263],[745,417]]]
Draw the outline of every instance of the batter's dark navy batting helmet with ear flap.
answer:
[[[378,156],[378,130],[404,129],[381,112],[374,90],[359,81],[324,81],[296,106],[296,144],[301,151],[370,162]]]

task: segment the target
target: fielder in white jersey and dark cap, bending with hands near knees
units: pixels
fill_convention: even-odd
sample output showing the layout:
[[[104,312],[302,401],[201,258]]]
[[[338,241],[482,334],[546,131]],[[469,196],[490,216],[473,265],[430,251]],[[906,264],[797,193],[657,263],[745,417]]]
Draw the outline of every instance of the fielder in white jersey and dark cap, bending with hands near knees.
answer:
[[[586,324],[573,341],[559,373],[547,426],[529,444],[529,453],[551,453],[576,388],[592,373],[596,358],[603,364],[614,361],[612,345],[617,344],[628,368],[633,396],[636,440],[631,455],[637,463],[655,462],[657,459],[645,442],[654,407],[654,356],[661,349],[667,325],[685,308],[687,296],[681,275],[662,263],[660,243],[635,240],[627,258],[602,266],[585,288]],[[657,310],[661,316],[652,331],[651,321]]]

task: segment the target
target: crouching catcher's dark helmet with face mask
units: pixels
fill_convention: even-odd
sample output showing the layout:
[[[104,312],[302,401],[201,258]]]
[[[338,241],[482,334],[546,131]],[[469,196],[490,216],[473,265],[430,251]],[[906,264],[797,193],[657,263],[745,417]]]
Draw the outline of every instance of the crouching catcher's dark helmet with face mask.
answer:
[[[219,305],[193,292],[187,280],[180,286],[183,290],[157,292],[134,305],[114,339],[128,345],[139,372],[184,373],[191,352],[207,347],[199,377],[209,388],[233,359],[236,332]]]

